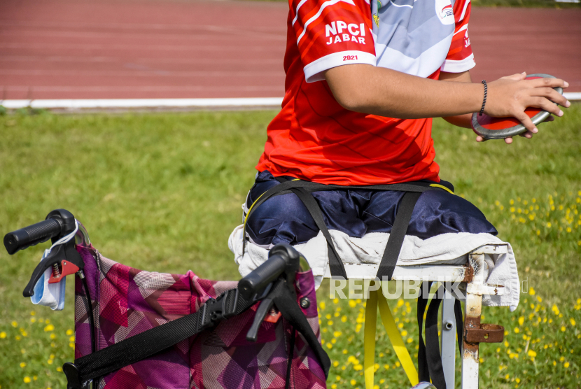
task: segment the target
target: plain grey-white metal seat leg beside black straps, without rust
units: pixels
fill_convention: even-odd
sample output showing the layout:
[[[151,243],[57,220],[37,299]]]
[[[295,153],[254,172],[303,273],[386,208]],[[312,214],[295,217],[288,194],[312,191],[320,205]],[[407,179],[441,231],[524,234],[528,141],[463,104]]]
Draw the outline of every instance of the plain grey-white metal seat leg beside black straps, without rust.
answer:
[[[454,316],[454,302],[456,299],[451,293],[444,293],[442,302],[442,367],[446,389],[454,389],[456,373],[456,317]]]

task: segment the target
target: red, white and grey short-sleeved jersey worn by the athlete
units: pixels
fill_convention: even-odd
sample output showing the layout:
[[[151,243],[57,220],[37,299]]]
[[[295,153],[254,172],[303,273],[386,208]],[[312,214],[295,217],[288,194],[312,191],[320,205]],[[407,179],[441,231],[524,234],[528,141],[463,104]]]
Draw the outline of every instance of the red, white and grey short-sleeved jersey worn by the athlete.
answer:
[[[439,181],[431,119],[339,106],[322,72],[370,64],[437,79],[474,66],[470,0],[289,0],[285,97],[257,169],[319,183]]]

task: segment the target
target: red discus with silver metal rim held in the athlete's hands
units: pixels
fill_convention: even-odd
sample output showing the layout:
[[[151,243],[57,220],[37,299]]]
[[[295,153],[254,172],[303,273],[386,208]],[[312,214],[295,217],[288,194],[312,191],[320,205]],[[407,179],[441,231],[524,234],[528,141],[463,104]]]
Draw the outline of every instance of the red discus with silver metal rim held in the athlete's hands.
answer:
[[[526,77],[526,80],[534,80],[535,78],[556,77],[548,74],[531,74]],[[563,94],[563,88],[554,87],[553,89]],[[534,107],[526,108],[524,113],[531,118],[534,125],[544,122],[551,114],[541,108]],[[493,118],[485,113],[481,116],[476,112],[472,113],[472,130],[484,139],[505,139],[509,136],[524,134],[527,131],[517,118]]]

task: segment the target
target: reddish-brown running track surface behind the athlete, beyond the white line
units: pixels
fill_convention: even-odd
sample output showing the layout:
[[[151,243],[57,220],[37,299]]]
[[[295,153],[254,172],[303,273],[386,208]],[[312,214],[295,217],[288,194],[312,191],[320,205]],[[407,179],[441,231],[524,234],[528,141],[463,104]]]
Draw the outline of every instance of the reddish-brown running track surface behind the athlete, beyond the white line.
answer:
[[[0,1],[1,99],[282,97],[286,3]],[[475,81],[581,91],[581,9],[474,8]]]

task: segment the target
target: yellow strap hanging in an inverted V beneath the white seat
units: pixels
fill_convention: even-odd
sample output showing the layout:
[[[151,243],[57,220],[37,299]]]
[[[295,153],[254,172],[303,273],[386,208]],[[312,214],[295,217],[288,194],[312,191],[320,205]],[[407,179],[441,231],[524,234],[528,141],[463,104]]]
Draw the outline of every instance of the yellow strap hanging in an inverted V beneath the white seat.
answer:
[[[377,306],[379,304],[379,313],[381,322],[384,324],[391,346],[398,355],[398,359],[407,375],[407,379],[412,386],[418,384],[418,372],[412,362],[412,357],[405,347],[398,327],[395,325],[393,315],[387,304],[384,295],[379,290],[370,290],[369,299],[365,305],[365,332],[364,332],[364,351],[363,369],[365,372],[365,389],[373,389],[373,376],[375,365],[375,327],[377,325]]]

